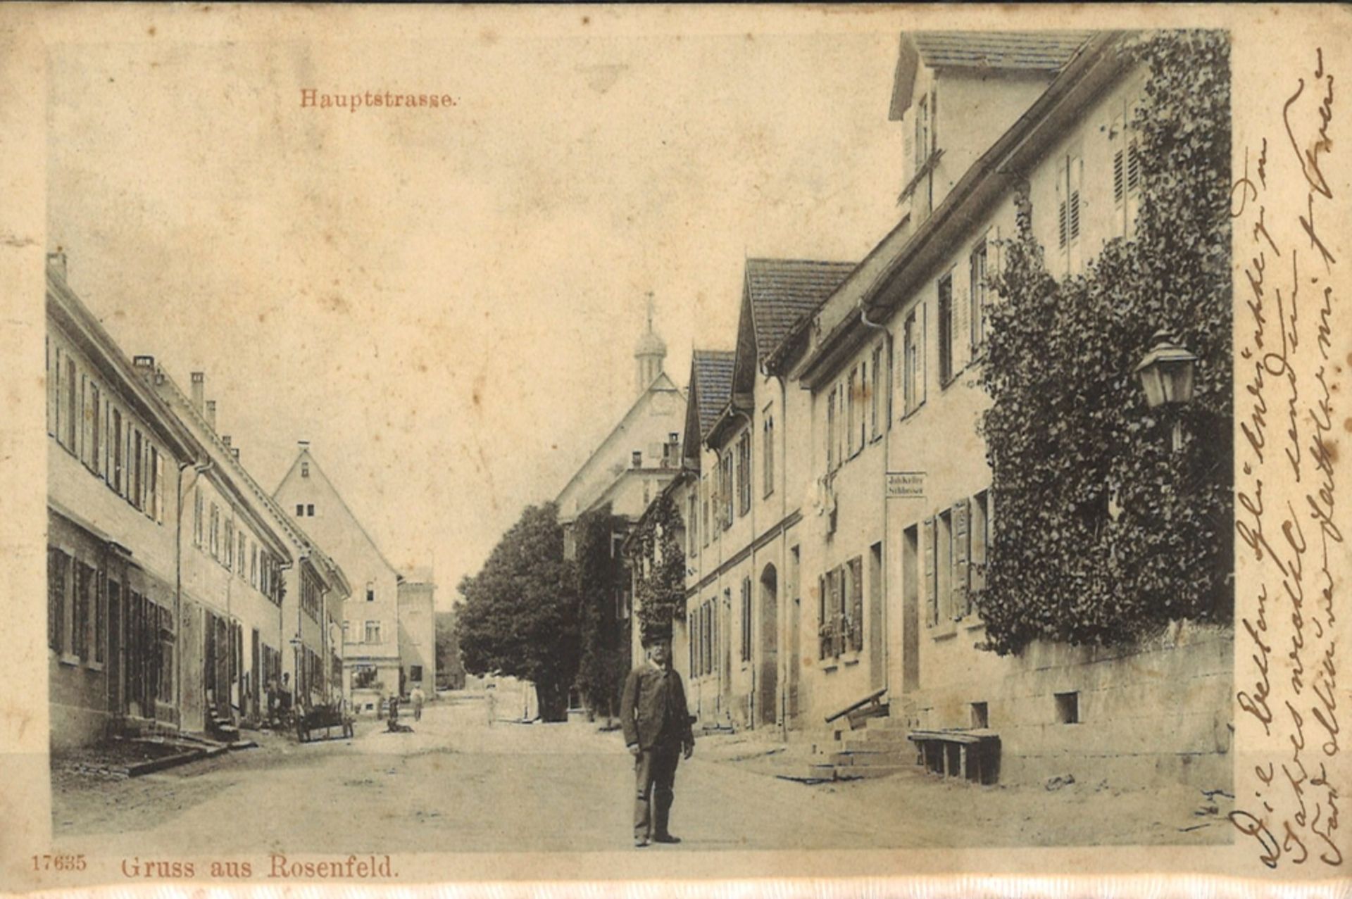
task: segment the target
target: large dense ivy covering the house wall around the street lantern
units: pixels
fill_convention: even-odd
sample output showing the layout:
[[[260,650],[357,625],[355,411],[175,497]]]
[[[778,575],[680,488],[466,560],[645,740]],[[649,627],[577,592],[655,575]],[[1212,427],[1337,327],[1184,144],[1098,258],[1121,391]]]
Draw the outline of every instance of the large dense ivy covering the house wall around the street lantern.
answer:
[[[1059,283],[1025,191],[995,278],[980,374],[995,533],[976,602],[1000,654],[1232,618],[1229,37],[1152,32],[1122,51],[1148,70],[1134,234]],[[1148,408],[1134,374],[1161,329],[1199,357],[1176,410]]]

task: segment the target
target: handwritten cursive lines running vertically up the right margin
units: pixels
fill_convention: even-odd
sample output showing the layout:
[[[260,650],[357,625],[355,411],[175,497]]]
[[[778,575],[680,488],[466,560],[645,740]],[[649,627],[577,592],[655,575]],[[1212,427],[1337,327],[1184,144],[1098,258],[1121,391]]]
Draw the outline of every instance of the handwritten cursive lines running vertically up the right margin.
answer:
[[[1242,277],[1236,418],[1237,565],[1249,602],[1236,637],[1238,722],[1261,729],[1230,822],[1268,868],[1343,864],[1345,765],[1334,623],[1345,558],[1336,525],[1333,318],[1338,264],[1320,222],[1337,219],[1334,77],[1315,50],[1274,116],[1282,137],[1245,149],[1230,189]],[[1251,165],[1252,160],[1252,165]],[[1294,191],[1293,191],[1294,184]],[[1310,264],[1313,261],[1313,264]],[[1287,499],[1294,497],[1294,499]],[[1249,587],[1252,584],[1252,587]],[[1241,592],[1241,595],[1245,595]]]

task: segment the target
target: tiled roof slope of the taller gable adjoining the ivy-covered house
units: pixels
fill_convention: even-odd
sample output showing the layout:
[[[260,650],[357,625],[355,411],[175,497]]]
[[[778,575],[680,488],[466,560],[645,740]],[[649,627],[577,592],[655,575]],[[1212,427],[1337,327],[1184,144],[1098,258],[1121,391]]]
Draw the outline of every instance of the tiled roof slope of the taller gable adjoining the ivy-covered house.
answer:
[[[746,291],[752,301],[757,360],[775,351],[794,324],[817,311],[856,265],[857,262],[746,260]]]

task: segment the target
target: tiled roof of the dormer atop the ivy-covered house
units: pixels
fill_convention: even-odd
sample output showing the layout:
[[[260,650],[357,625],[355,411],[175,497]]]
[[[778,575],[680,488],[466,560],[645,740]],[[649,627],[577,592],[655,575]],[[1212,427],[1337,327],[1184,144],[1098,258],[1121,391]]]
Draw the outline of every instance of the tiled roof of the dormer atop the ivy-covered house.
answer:
[[[915,70],[977,69],[1056,74],[1094,35],[1092,31],[911,31],[902,35],[888,118],[900,119],[911,104]]]

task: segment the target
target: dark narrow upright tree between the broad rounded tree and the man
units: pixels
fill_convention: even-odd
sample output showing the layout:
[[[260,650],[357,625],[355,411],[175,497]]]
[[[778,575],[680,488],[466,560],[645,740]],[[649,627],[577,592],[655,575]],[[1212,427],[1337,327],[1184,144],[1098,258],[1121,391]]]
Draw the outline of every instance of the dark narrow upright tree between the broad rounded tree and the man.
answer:
[[[615,548],[615,535],[627,523],[610,504],[585,512],[573,525],[577,546],[577,596],[581,625],[581,668],[577,687],[594,714],[607,722],[619,704],[619,688],[629,666],[629,629],[617,614],[627,569]]]

